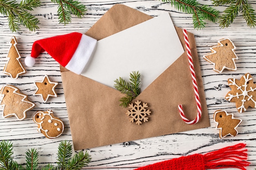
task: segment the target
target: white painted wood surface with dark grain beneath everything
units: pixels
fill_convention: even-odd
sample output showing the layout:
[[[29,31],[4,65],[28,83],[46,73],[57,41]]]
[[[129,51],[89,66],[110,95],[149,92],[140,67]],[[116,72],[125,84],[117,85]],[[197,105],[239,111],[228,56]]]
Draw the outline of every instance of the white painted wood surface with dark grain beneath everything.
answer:
[[[245,113],[239,114],[235,103],[224,99],[227,92],[230,91],[227,85],[228,78],[240,79],[245,73],[251,73],[256,82],[256,29],[248,28],[241,14],[229,28],[220,29],[218,24],[209,22],[205,29],[195,30],[193,29],[192,15],[177,11],[170,4],[164,4],[158,0],[79,1],[86,5],[87,13],[82,19],[73,16],[72,23],[64,26],[58,24],[57,5],[50,0],[41,0],[42,5],[32,12],[40,20],[40,29],[35,32],[30,32],[22,27],[17,33],[12,33],[9,31],[7,17],[0,15],[0,86],[13,84],[20,88],[22,93],[29,95],[29,99],[36,104],[36,107],[27,113],[27,118],[23,121],[17,121],[14,117],[9,119],[0,117],[0,140],[9,140],[13,143],[14,157],[19,163],[25,163],[25,151],[28,148],[38,150],[40,166],[55,163],[59,142],[62,140],[72,142],[72,137],[59,64],[52,57],[44,53],[36,60],[35,66],[26,68],[27,73],[18,79],[11,79],[2,73],[7,62],[5,57],[9,50],[11,36],[14,35],[17,38],[17,47],[22,56],[21,62],[24,63],[24,58],[30,53],[34,41],[74,31],[85,33],[108,9],[114,4],[121,3],[152,16],[157,16],[162,11],[168,11],[175,26],[187,29],[195,35],[211,127],[91,148],[88,152],[92,156],[92,161],[84,169],[132,170],[182,155],[210,152],[240,142],[247,144],[248,160],[251,162],[247,169],[256,168],[256,108],[249,108]],[[202,4],[211,4],[211,0],[199,1]],[[256,1],[249,0],[249,2],[256,9]],[[217,9],[223,11],[225,7],[217,7]],[[204,54],[210,52],[209,47],[216,45],[221,38],[230,38],[237,47],[238,70],[235,72],[224,71],[218,74],[212,70],[213,66],[202,58]],[[42,80],[45,74],[49,75],[51,81],[59,83],[56,88],[58,97],[50,98],[46,104],[39,96],[33,96],[36,90],[33,81]],[[32,120],[35,111],[50,108],[65,124],[63,135],[56,139],[43,137],[37,132],[37,125]],[[2,110],[2,108],[0,109]],[[238,127],[239,134],[236,137],[219,138],[219,131],[215,129],[216,124],[213,122],[213,113],[217,109],[225,109],[229,113],[234,113],[235,117],[243,119],[242,124]]]

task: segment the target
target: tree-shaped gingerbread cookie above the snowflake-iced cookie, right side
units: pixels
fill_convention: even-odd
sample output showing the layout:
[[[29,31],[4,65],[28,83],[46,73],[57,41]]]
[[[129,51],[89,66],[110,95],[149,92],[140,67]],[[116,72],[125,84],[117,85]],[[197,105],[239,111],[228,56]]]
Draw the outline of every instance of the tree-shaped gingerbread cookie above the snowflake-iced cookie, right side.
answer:
[[[204,55],[204,60],[213,64],[213,70],[222,73],[224,69],[236,71],[235,60],[238,59],[235,49],[236,46],[228,38],[218,41],[217,46],[210,48],[211,53]]]

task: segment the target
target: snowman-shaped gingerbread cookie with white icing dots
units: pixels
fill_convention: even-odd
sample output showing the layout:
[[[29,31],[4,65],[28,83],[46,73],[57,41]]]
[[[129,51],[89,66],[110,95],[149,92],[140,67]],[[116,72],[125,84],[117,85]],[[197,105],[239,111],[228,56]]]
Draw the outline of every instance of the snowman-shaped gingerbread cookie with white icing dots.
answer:
[[[59,137],[63,133],[63,121],[54,117],[52,110],[36,112],[33,120],[38,125],[38,132],[43,133],[49,139]]]

